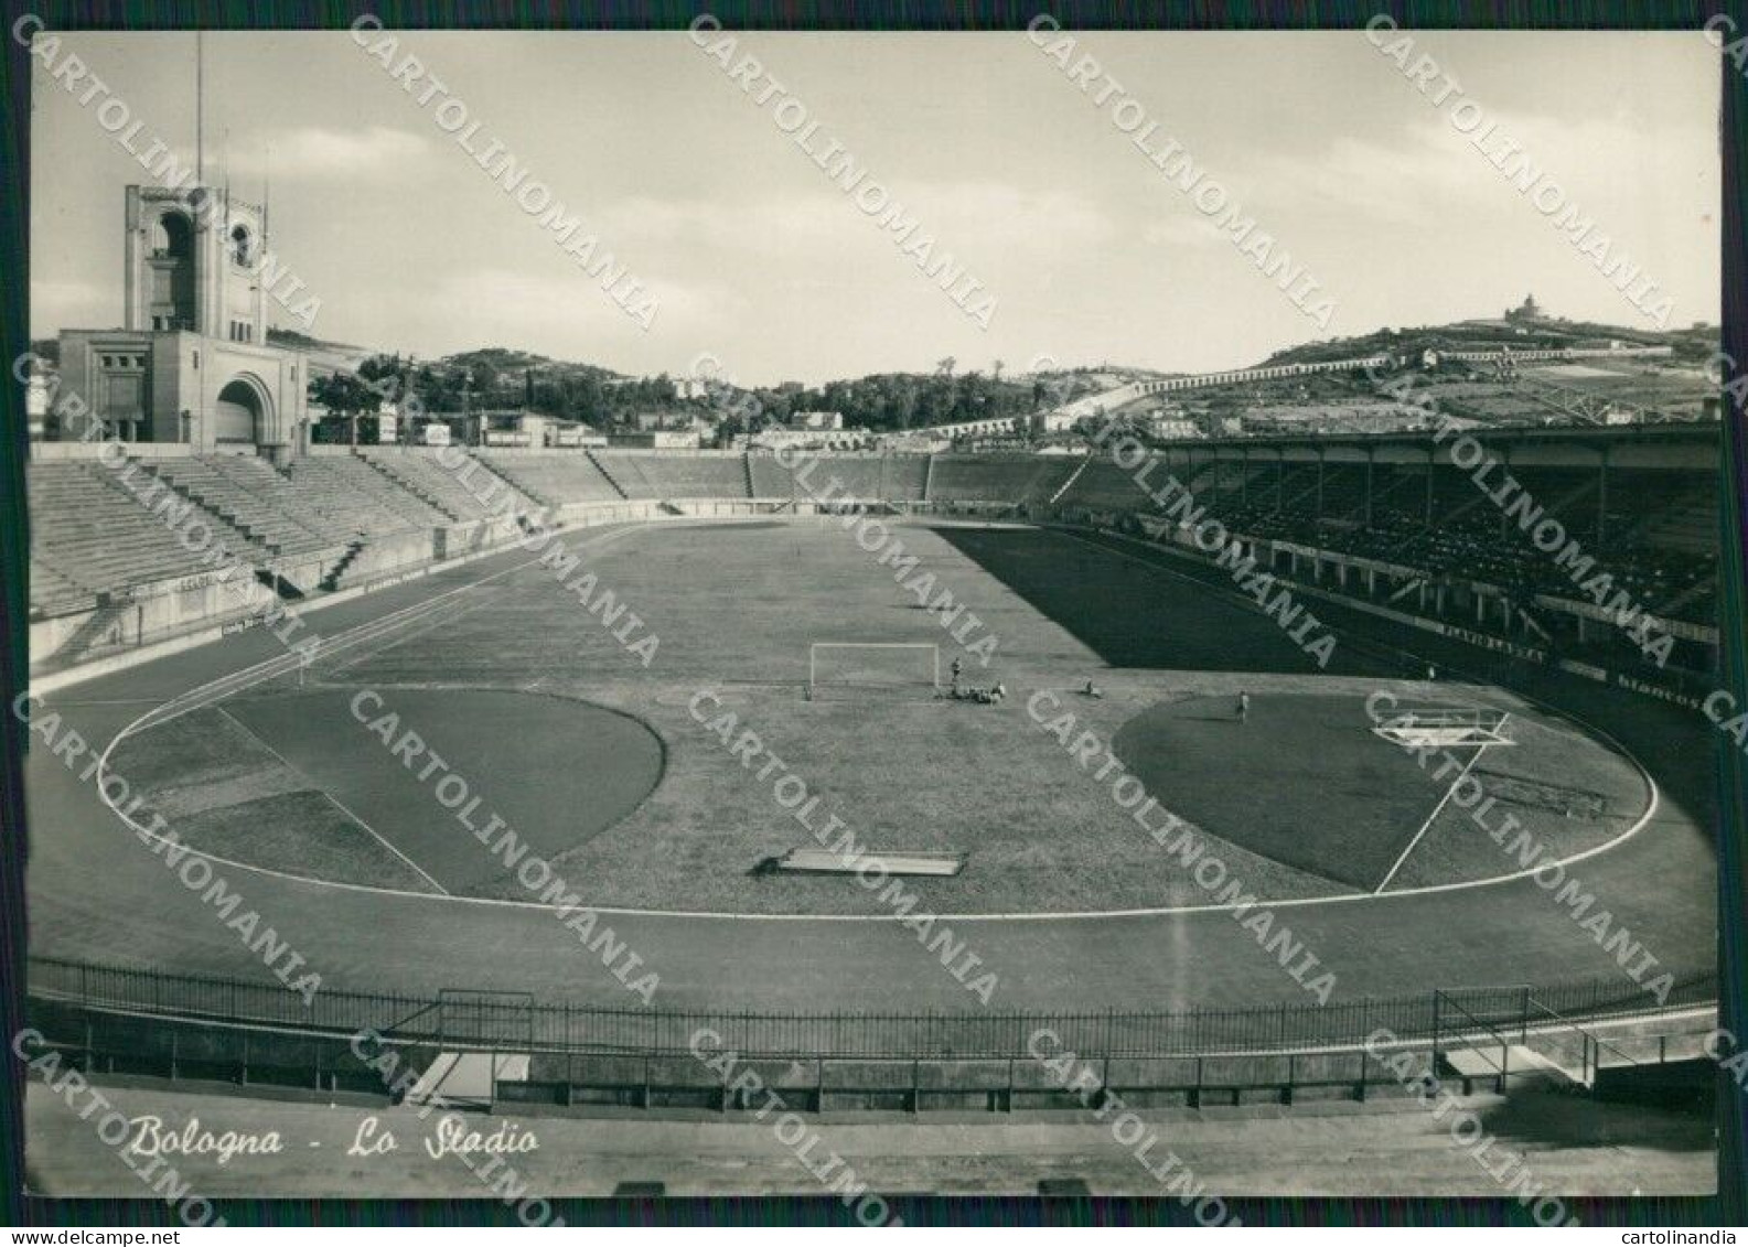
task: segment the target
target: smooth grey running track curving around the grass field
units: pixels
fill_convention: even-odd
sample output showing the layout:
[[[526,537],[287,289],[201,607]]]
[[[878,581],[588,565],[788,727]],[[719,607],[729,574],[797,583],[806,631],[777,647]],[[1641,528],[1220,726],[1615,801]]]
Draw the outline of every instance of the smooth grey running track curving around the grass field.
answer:
[[[316,611],[309,625],[332,639],[526,561],[524,552],[509,550]],[[86,739],[107,744],[150,707],[283,653],[257,629],[75,685],[49,697],[37,714],[58,711]],[[1598,908],[1608,908],[1615,926],[1631,929],[1657,955],[1659,969],[1676,978],[1710,973],[1717,948],[1710,810],[1718,749],[1727,741],[1696,713],[1585,681],[1563,678],[1535,692],[1605,727],[1662,789],[1654,819],[1638,835],[1578,863],[1571,875],[1596,892]],[[33,737],[26,760],[31,952],[267,978],[260,961],[98,802],[96,791],[40,746]],[[329,989],[465,987],[635,1004],[551,912],[358,892],[234,868],[224,875]],[[573,884],[586,891],[586,880]],[[614,915],[608,922],[661,976],[657,1004],[664,1008],[981,1008],[919,947],[914,931],[893,922],[654,915]],[[1276,922],[1290,926],[1337,975],[1335,999],[1622,975],[1613,957],[1528,878],[1281,906]],[[1311,999],[1222,912],[951,926],[1000,976],[995,1008],[1173,1009]]]

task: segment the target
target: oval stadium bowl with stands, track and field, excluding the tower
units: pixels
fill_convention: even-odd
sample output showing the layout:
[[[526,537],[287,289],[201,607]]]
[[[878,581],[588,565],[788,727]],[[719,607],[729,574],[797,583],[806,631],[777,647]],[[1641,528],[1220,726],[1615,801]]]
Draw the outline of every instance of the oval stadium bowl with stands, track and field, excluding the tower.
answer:
[[[1157,447],[1150,475],[1098,447],[45,445],[44,1034],[110,1074],[369,1097],[367,1027],[416,1099],[682,1118],[738,1107],[703,1025],[820,1114],[1073,1109],[1026,1060],[1045,1023],[1127,1104],[1388,1100],[1379,1023],[1500,1092],[1678,1081],[1715,996],[1676,672],[1717,646],[1717,424],[1484,444],[1675,662],[1425,433]]]

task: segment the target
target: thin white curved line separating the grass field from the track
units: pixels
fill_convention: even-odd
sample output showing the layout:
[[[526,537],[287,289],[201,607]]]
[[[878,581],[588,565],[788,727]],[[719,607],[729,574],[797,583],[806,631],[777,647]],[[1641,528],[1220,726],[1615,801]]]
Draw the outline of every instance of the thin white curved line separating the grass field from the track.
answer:
[[[635,526],[626,527],[626,529],[617,529],[617,534],[624,536],[624,534],[629,534],[629,533],[635,533],[635,531],[643,531],[647,527],[649,527],[647,524],[635,524]],[[1037,527],[1037,526],[1030,526],[1030,527]],[[1059,531],[1059,529],[1040,529],[1040,531]],[[1159,564],[1154,564],[1154,562],[1148,562],[1145,559],[1138,559],[1134,555],[1124,554],[1122,550],[1112,550],[1110,547],[1103,547],[1098,541],[1086,541],[1084,538],[1079,538],[1073,533],[1063,533],[1063,536],[1070,536],[1073,540],[1084,541],[1086,545],[1091,545],[1091,547],[1094,547],[1098,550],[1105,550],[1106,554],[1113,554],[1113,555],[1117,555],[1120,559],[1129,559],[1131,562],[1138,562],[1143,568],[1152,568],[1154,571],[1157,571],[1161,575],[1173,576],[1173,578],[1178,578],[1178,580],[1185,580],[1187,583],[1196,585],[1199,589],[1204,589],[1204,590],[1210,590],[1210,592],[1215,592],[1215,594],[1220,592],[1218,589],[1215,589],[1211,585],[1204,585],[1203,582],[1196,580],[1194,576],[1185,576],[1185,575],[1176,573],[1176,571],[1173,571],[1169,568],[1161,568]],[[493,573],[491,576],[486,576],[482,580],[470,582],[468,585],[463,585],[461,589],[456,589],[456,590],[451,590],[451,592],[461,592],[463,589],[472,589],[474,585],[482,585],[488,580],[496,580],[498,576],[509,575],[510,571],[519,571],[521,568],[526,568],[531,562],[538,562],[538,561],[535,559],[535,561],[530,561],[530,562],[517,564],[516,568],[507,568],[505,571],[498,571],[498,573]],[[444,594],[444,596],[447,597],[447,594]],[[360,629],[362,627],[369,627],[369,625],[365,624],[365,625],[360,625]],[[348,634],[343,632],[341,639],[346,637],[346,636]],[[285,662],[285,658],[276,658],[273,662]],[[262,665],[271,665],[271,664],[262,664]],[[267,676],[262,676],[262,678],[266,679]],[[222,679],[220,681],[213,681],[213,683],[215,685],[222,683]],[[196,690],[191,690],[191,692],[192,693],[199,693],[203,690],[196,688]],[[1605,732],[1605,730],[1601,730],[1598,727],[1592,727],[1589,721],[1580,720],[1575,714],[1568,714],[1564,711],[1559,711],[1559,709],[1556,709],[1552,706],[1547,706],[1545,702],[1540,702],[1535,697],[1530,697],[1526,693],[1512,693],[1512,697],[1516,697],[1517,700],[1528,702],[1531,706],[1536,706],[1542,711],[1552,714],[1554,718],[1563,718],[1568,723],[1582,727],[1591,735],[1596,735],[1596,737],[1606,741],[1610,746],[1613,746],[1613,749],[1622,758],[1626,758],[1627,761],[1633,763],[1633,767],[1640,774],[1640,779],[1645,781],[1645,786],[1647,786],[1647,789],[1650,793],[1650,800],[1645,805],[1645,812],[1640,814],[1638,821],[1633,823],[1633,826],[1629,826],[1626,831],[1622,831],[1620,835],[1617,835],[1612,840],[1605,840],[1603,844],[1592,845],[1591,849],[1585,849],[1584,852],[1577,852],[1577,854],[1573,854],[1570,858],[1561,858],[1557,863],[1538,863],[1531,870],[1519,870],[1519,872],[1512,872],[1512,873],[1505,873],[1505,875],[1493,875],[1489,878],[1468,878],[1468,880],[1461,880],[1461,882],[1456,882],[1456,884],[1426,884],[1426,885],[1421,885],[1421,887],[1402,887],[1402,889],[1398,889],[1395,892],[1334,892],[1330,896],[1299,896],[1299,898],[1287,898],[1287,899],[1278,899],[1278,901],[1260,901],[1259,899],[1257,903],[1253,903],[1250,906],[1241,906],[1241,905],[1166,905],[1166,906],[1147,906],[1147,908],[1129,908],[1129,910],[1070,910],[1070,912],[1044,912],[1044,913],[937,913],[935,917],[940,919],[940,920],[953,920],[953,922],[1073,922],[1073,920],[1092,920],[1092,919],[1166,917],[1166,915],[1175,915],[1175,913],[1232,913],[1232,912],[1239,912],[1243,908],[1259,908],[1259,906],[1269,908],[1269,910],[1283,910],[1283,908],[1299,908],[1299,906],[1306,906],[1306,905],[1349,905],[1349,903],[1363,903],[1363,901],[1381,903],[1381,901],[1393,901],[1393,899],[1404,898],[1404,896],[1428,896],[1428,894],[1433,894],[1433,892],[1463,892],[1463,891],[1470,891],[1470,889],[1475,889],[1475,887],[1495,887],[1498,884],[1509,884],[1509,882],[1514,882],[1514,880],[1519,880],[1519,878],[1530,878],[1536,872],[1547,870],[1552,865],[1570,866],[1575,861],[1584,861],[1587,858],[1594,858],[1598,854],[1608,852],[1610,849],[1615,849],[1617,845],[1620,845],[1626,840],[1633,838],[1634,835],[1638,835],[1640,831],[1643,831],[1650,824],[1652,817],[1657,814],[1657,809],[1662,803],[1662,791],[1657,788],[1657,781],[1652,779],[1652,775],[1645,768],[1645,765],[1624,744],[1620,744],[1620,741],[1617,741],[1615,737],[1612,737],[1608,732]],[[175,700],[175,699],[171,699],[171,700]],[[166,702],[166,706],[170,702]],[[1495,707],[1495,709],[1498,709],[1498,707]],[[121,810],[117,810],[114,805],[110,805],[108,798],[105,798],[101,795],[103,793],[103,789],[101,789],[101,768],[108,763],[110,751],[122,741],[122,737],[126,737],[129,732],[133,732],[138,727],[138,723],[142,720],[149,718],[149,716],[150,716],[150,711],[147,714],[142,714],[138,720],[135,720],[128,727],[124,727],[121,730],[121,734],[117,734],[115,739],[110,741],[108,746],[103,749],[103,758],[98,763],[98,767],[100,767],[100,770],[98,770],[98,781],[100,781],[98,782],[98,798],[105,805],[108,805],[108,809],[114,810],[115,816],[126,826],[129,826],[136,835],[140,835],[142,838],[147,838],[147,840],[161,840],[163,837],[156,837],[150,831],[147,831],[143,826],[140,826],[138,823],[128,819]],[[192,849],[189,845],[178,845],[178,847],[185,849],[187,852],[194,854],[196,858],[206,858],[208,861],[215,861],[215,863],[220,863],[224,866],[234,866],[238,870],[246,870],[246,872],[267,877],[267,878],[285,878],[288,882],[304,884],[304,885],[311,885],[311,887],[336,887],[336,889],[351,891],[351,892],[367,892],[367,894],[374,894],[374,896],[400,896],[400,898],[418,899],[418,901],[439,901],[439,903],[446,903],[446,905],[484,905],[484,906],[516,908],[516,910],[540,910],[540,912],[547,912],[547,913],[563,912],[558,906],[540,905],[537,901],[505,901],[505,899],[498,899],[498,898],[491,898],[491,896],[432,896],[430,892],[407,892],[407,891],[399,889],[399,887],[376,887],[372,884],[343,884],[343,882],[327,880],[327,878],[309,878],[308,875],[292,875],[288,872],[273,870],[269,866],[253,866],[253,865],[250,865],[246,861],[232,861],[231,858],[218,858],[217,854],[199,852],[198,849]],[[614,915],[614,917],[633,917],[633,919],[708,919],[708,920],[734,920],[734,922],[902,922],[904,920],[897,913],[734,913],[734,912],[713,912],[713,910],[640,910],[640,908],[621,908],[621,906],[589,906],[589,910],[593,913],[605,913],[605,915]]]

